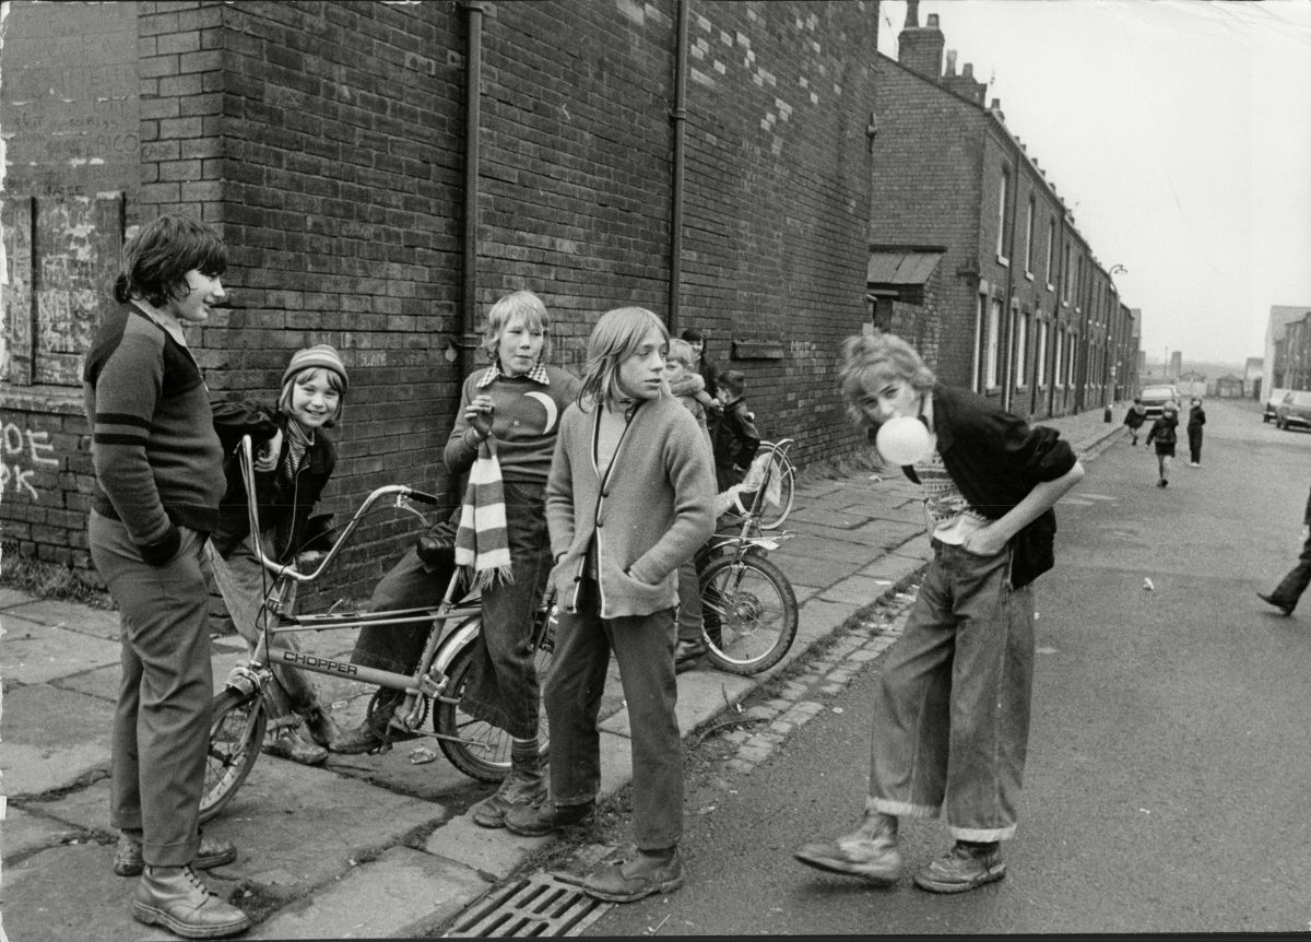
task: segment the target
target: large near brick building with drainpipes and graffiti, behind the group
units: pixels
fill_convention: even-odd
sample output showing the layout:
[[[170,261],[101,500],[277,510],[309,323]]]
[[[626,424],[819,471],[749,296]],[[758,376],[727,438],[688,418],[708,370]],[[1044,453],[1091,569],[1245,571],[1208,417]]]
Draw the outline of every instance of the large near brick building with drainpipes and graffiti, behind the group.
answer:
[[[641,304],[708,329],[802,463],[861,441],[831,361],[868,319],[876,3],[9,7],[8,551],[89,564],[79,362],[125,236],[165,211],[231,247],[235,308],[191,335],[214,392],[271,396],[290,352],[342,350],[338,514],[448,488],[479,315],[519,287],[558,362]],[[400,534],[366,529],[351,592]]]

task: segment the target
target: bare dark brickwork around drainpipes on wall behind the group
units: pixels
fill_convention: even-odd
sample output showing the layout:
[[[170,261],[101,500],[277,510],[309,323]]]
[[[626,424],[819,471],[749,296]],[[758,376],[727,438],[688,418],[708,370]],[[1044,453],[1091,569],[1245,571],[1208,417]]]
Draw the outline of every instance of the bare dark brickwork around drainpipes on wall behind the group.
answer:
[[[469,12],[454,0],[135,7],[140,176],[125,215],[186,211],[231,248],[235,308],[193,335],[210,388],[270,399],[291,352],[333,344],[351,384],[323,509],[342,518],[396,480],[450,492],[440,450],[463,367],[481,362],[452,344]],[[578,369],[604,310],[670,314],[676,4],[484,9],[473,306],[540,293],[553,358]],[[747,373],[762,425],[797,437],[802,463],[850,451],[830,373],[865,319],[877,5],[690,9],[679,324],[707,328],[721,366]],[[71,436],[75,413],[14,424]],[[76,504],[85,441],[71,442],[60,461]],[[25,555],[59,555],[84,525],[20,533],[8,500],[0,517]],[[367,593],[412,535],[408,518],[362,529],[330,589]]]

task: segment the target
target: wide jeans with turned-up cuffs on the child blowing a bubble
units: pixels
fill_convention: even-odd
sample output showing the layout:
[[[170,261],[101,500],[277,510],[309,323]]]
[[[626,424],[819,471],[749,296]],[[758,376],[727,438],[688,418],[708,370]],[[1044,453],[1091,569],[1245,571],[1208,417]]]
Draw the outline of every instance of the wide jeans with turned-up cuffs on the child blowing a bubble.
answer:
[[[931,817],[960,841],[1013,836],[1029,740],[1033,586],[1012,589],[1009,548],[935,556],[874,705],[868,807]]]

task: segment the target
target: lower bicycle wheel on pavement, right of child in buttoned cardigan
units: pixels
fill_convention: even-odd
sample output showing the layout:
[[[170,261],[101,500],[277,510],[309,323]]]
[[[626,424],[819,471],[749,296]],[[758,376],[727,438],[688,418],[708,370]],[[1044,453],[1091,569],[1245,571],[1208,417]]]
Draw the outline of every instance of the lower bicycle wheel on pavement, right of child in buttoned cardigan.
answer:
[[[707,657],[730,674],[758,674],[788,653],[797,636],[797,594],[763,556],[716,559],[701,573]]]

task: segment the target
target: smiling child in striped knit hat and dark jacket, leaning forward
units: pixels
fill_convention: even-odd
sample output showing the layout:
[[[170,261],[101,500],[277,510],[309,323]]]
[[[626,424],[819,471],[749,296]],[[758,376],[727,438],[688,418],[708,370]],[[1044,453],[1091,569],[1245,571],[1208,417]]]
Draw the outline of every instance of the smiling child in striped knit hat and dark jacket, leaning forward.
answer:
[[[256,400],[210,404],[214,426],[228,455],[228,487],[219,508],[219,529],[210,544],[210,563],[228,614],[243,638],[257,644],[264,628],[265,592],[270,576],[254,551],[235,449],[249,434],[256,447],[256,502],[264,533],[264,552],[287,563],[315,548],[324,535],[325,517],[312,517],[337,463],[337,446],[324,429],[341,419],[349,379],[337,350],[328,344],[298,350],[282,374],[277,404]],[[292,600],[294,601],[294,600]],[[278,635],[271,647],[298,649],[295,635]],[[326,748],[340,736],[313,682],[286,664],[273,668],[277,684],[270,699],[264,750],[304,765],[328,758]],[[308,733],[309,741],[302,735]]]

